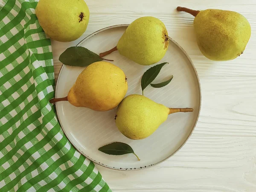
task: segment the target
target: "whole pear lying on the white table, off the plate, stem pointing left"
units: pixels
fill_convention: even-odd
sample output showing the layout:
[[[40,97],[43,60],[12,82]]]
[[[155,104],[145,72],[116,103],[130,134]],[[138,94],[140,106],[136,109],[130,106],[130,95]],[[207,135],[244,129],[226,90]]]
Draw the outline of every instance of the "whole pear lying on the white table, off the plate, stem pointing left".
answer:
[[[178,11],[195,16],[194,28],[198,47],[213,61],[228,61],[244,52],[250,39],[251,27],[241,14],[219,9],[195,11],[177,7]]]

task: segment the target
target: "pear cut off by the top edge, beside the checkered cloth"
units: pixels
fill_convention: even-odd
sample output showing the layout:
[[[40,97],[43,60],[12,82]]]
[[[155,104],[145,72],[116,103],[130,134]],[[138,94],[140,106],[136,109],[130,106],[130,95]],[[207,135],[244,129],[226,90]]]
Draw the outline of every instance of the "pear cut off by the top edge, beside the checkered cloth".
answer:
[[[84,0],[40,0],[35,15],[49,38],[68,42],[85,32],[90,12]]]

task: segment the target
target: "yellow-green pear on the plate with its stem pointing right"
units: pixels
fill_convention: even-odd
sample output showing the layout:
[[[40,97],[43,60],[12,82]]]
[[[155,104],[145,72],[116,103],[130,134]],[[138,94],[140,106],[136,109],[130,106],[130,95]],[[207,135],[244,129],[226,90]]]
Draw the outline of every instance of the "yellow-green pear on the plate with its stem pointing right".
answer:
[[[192,108],[167,108],[142,95],[129,95],[116,111],[116,126],[132,140],[144,139],[166,121],[171,113],[192,112]]]

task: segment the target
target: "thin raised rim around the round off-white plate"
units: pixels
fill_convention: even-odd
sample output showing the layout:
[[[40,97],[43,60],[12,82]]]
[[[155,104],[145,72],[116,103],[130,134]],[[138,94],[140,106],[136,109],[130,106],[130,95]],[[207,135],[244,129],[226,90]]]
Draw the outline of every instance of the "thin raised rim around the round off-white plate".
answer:
[[[118,24],[118,25],[113,25],[113,26],[108,26],[108,27],[105,27],[105,28],[102,28],[102,29],[99,29],[98,31],[96,32],[93,32],[91,33],[90,35],[88,35],[87,37],[85,37],[84,39],[82,39],[76,46],[80,46],[81,44],[84,43],[84,41],[87,41],[88,39],[90,39],[91,37],[93,37],[94,35],[97,35],[98,33],[100,32],[103,32],[103,31],[106,31],[108,29],[113,29],[113,28],[118,28],[118,27],[128,27],[129,24]],[[168,36],[169,37],[169,36]],[[57,118],[58,118],[58,122],[60,123],[61,125],[61,129],[62,131],[64,132],[65,136],[67,137],[67,139],[69,140],[70,144],[73,145],[74,148],[76,148],[77,151],[79,151],[80,154],[84,155],[84,157],[88,158],[89,160],[93,161],[94,163],[100,165],[100,166],[103,166],[103,167],[106,167],[108,169],[113,169],[113,170],[118,170],[118,171],[137,171],[137,170],[142,170],[142,169],[147,169],[149,167],[152,167],[152,166],[156,166],[156,165],[159,165],[160,163],[163,163],[164,161],[168,160],[170,157],[172,157],[173,155],[175,155],[186,143],[187,141],[189,140],[189,138],[191,137],[193,131],[195,130],[195,126],[197,125],[198,123],[198,119],[199,119],[199,116],[200,116],[200,113],[201,113],[201,102],[202,102],[202,94],[201,94],[201,84],[200,84],[200,80],[199,80],[199,76],[198,76],[198,73],[197,73],[197,70],[195,69],[195,65],[193,64],[191,58],[189,57],[189,55],[186,53],[186,51],[175,41],[173,40],[171,37],[169,37],[169,39],[186,55],[186,58],[189,60],[194,72],[195,72],[195,76],[196,76],[196,79],[198,81],[198,87],[199,87],[199,108],[198,108],[198,114],[197,114],[197,118],[195,120],[195,123],[193,125],[193,128],[191,130],[191,132],[189,133],[188,137],[186,138],[186,140],[183,142],[182,145],[180,145],[179,148],[177,148],[177,150],[175,152],[173,152],[172,154],[170,154],[168,157],[166,157],[165,159],[155,163],[155,164],[152,164],[151,166],[143,166],[143,167],[139,167],[139,168],[115,168],[115,167],[112,167],[112,166],[107,166],[103,163],[99,163],[97,162],[96,160],[90,158],[87,154],[85,154],[84,152],[82,152],[69,138],[68,134],[66,133],[66,131],[64,130],[64,128],[62,128],[62,123],[61,123],[61,120],[59,119],[59,113],[58,113],[58,105],[55,105],[55,108],[56,108],[56,113],[57,113]],[[61,66],[61,69],[58,73],[58,78],[57,78],[57,81],[56,81],[56,84],[55,84],[55,97],[57,96],[57,88],[58,88],[58,83],[59,83],[59,78],[60,78],[60,74],[62,72],[62,70],[64,69],[64,64],[62,64]]]

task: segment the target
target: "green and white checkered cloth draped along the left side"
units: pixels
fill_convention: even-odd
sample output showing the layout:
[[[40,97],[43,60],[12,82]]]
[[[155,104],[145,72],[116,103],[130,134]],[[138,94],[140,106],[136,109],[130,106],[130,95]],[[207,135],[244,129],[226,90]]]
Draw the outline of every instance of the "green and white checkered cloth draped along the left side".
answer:
[[[34,0],[0,0],[0,192],[111,192],[55,109],[50,39]]]

